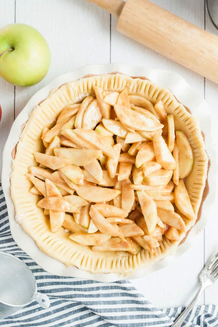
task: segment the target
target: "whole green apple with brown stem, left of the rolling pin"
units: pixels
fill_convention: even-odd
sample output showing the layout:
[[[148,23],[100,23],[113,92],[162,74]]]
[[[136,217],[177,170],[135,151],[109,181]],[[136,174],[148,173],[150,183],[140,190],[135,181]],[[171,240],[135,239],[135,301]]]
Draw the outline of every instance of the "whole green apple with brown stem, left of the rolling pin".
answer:
[[[50,62],[49,46],[35,28],[11,24],[0,29],[0,76],[9,83],[31,86],[40,82]]]

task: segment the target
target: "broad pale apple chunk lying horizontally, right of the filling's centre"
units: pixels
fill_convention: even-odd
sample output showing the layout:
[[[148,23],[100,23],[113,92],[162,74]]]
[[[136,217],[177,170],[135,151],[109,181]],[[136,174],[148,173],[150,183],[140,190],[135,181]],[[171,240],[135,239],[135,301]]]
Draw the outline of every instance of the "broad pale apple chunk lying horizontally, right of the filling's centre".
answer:
[[[160,169],[148,176],[145,176],[144,181],[150,186],[165,186],[171,180],[172,174],[172,170]]]

